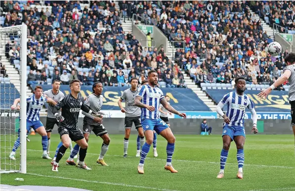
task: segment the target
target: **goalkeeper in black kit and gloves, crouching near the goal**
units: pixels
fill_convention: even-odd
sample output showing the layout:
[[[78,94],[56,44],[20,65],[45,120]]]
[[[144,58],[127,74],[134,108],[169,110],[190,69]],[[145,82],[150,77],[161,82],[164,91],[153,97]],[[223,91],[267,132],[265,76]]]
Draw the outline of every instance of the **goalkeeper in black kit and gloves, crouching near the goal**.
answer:
[[[62,142],[62,146],[57,152],[55,161],[52,163],[52,171],[58,171],[58,162],[69,148],[71,139],[80,146],[80,161],[77,167],[85,170],[91,170],[84,163],[88,144],[84,138],[82,131],[78,127],[78,117],[80,109],[88,114],[97,115],[84,105],[84,98],[79,94],[80,80],[73,79],[70,82],[71,93],[61,98],[53,107],[52,113],[56,117],[58,123],[58,133]],[[62,108],[61,115],[58,112]]]

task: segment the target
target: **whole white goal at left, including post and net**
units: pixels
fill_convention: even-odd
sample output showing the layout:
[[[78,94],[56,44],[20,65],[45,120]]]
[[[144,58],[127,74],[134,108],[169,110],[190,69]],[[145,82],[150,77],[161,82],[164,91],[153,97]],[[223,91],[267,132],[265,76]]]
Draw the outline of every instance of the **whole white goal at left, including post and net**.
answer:
[[[26,25],[0,28],[0,62],[0,173],[26,173]],[[16,98],[20,110],[11,110]]]

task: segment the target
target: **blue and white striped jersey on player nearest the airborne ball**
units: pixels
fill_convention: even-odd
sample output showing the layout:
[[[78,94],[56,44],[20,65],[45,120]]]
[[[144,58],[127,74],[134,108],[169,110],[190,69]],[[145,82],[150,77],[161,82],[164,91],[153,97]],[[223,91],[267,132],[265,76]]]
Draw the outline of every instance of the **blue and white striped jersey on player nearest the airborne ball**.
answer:
[[[235,91],[226,94],[220,101],[227,105],[226,116],[230,119],[228,126],[244,126],[246,108],[254,108],[253,101],[246,95],[239,95]]]

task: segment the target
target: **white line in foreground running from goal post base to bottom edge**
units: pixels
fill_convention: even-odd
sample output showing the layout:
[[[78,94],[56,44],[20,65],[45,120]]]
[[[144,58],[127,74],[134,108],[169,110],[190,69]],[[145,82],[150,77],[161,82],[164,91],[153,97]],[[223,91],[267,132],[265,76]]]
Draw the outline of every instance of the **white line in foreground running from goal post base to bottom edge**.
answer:
[[[34,175],[34,176],[48,177],[48,178],[58,178],[58,179],[65,179],[65,180],[81,181],[81,182],[87,182],[87,183],[96,183],[96,184],[132,187],[132,188],[138,188],[138,189],[149,189],[149,190],[157,190],[157,191],[176,191],[176,190],[169,190],[169,189],[158,189],[158,188],[153,188],[153,187],[126,185],[126,184],[123,184],[123,183],[109,183],[109,182],[89,181],[89,180],[83,180],[83,179],[66,178],[66,177],[60,177],[60,176],[48,176],[48,175],[34,174],[34,173],[27,173],[27,174]]]

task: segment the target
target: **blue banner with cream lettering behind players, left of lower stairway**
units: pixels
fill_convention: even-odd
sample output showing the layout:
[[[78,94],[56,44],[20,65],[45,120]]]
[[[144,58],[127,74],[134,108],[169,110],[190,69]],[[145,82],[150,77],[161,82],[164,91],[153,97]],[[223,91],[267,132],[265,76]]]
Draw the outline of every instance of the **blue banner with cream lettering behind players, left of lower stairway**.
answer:
[[[34,89],[36,85],[32,85]],[[51,89],[51,85],[42,85],[43,91]],[[118,101],[127,87],[103,87],[103,110],[120,110]],[[210,108],[189,88],[162,88],[164,95],[170,97],[170,104],[178,111],[210,112]],[[69,85],[61,85],[60,91],[65,95],[71,92]],[[92,86],[81,86],[81,95],[86,97],[92,93]],[[125,107],[125,103],[122,103]]]

